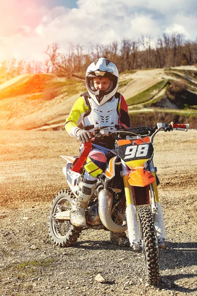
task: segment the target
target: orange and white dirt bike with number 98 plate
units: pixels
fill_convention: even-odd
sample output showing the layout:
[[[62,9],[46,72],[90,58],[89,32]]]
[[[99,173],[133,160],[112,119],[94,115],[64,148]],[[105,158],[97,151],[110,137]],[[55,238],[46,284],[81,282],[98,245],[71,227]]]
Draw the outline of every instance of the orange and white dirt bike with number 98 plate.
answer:
[[[157,285],[160,280],[159,250],[165,248],[165,228],[157,186],[160,181],[153,164],[153,140],[159,131],[184,130],[189,124],[157,123],[109,132],[100,129],[102,136],[113,136],[115,148],[106,149],[107,167],[98,177],[94,195],[86,209],[87,226],[124,232],[128,229],[130,246],[142,249],[147,281]],[[95,136],[96,138],[96,136]],[[60,191],[53,200],[49,216],[49,235],[60,247],[70,247],[82,231],[70,223],[72,200],[77,197],[77,181],[95,138],[83,144],[78,157],[61,156],[69,188]],[[126,216],[125,216],[126,208]],[[138,226],[139,225],[139,226]]]

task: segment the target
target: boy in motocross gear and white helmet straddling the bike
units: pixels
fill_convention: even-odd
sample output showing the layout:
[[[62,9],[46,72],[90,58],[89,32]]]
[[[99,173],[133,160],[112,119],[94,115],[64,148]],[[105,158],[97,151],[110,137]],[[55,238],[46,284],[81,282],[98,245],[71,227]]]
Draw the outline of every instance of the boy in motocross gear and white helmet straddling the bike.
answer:
[[[130,127],[127,103],[124,97],[117,93],[118,82],[118,69],[107,58],[99,58],[88,67],[86,71],[88,92],[76,100],[66,118],[65,129],[70,136],[78,137],[82,143],[85,143],[91,138],[92,131],[95,135],[99,133],[99,128],[105,127],[112,132],[119,128]],[[90,172],[85,169],[78,184],[78,198],[75,198],[71,209],[70,222],[75,226],[87,226],[85,209],[94,193],[98,176],[106,168],[105,154],[108,149],[114,148],[114,143],[115,140],[110,136],[94,141],[97,147],[92,147],[88,158],[92,161],[91,167],[95,165],[95,170]],[[111,232],[111,241],[121,243],[125,238],[125,233]]]

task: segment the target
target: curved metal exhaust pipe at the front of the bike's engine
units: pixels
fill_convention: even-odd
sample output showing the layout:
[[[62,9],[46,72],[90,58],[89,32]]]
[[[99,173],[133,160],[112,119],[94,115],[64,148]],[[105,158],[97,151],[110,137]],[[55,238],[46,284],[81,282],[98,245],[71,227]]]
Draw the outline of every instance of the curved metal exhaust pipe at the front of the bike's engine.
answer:
[[[123,220],[122,225],[113,222],[111,218],[111,208],[113,204],[113,196],[109,190],[101,189],[98,194],[99,200],[99,217],[102,224],[113,232],[125,232],[127,230],[127,219],[120,212],[117,215]]]

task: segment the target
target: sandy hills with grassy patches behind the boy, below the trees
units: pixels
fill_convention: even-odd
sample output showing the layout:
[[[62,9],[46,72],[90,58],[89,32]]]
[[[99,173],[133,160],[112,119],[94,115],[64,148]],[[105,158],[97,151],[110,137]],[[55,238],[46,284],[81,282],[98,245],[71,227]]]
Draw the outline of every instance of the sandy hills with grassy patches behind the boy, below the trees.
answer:
[[[85,81],[76,77],[23,74],[10,79],[0,84],[0,129],[63,129],[73,103],[85,90]],[[197,127],[195,66],[126,71],[120,75],[119,91],[133,124],[150,121],[154,112],[155,122],[168,119],[170,113],[171,119],[190,120]]]

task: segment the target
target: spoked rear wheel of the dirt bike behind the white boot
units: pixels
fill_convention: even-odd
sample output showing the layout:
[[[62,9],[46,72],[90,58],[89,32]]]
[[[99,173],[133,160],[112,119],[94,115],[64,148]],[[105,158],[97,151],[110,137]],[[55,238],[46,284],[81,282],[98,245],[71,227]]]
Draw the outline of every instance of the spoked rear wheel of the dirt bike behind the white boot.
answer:
[[[54,220],[53,214],[58,211],[63,212],[71,209],[71,199],[74,194],[70,189],[65,189],[58,194],[50,207],[49,215],[49,236],[56,246],[59,247],[71,247],[78,239],[82,227],[76,227],[70,223],[70,221]]]

